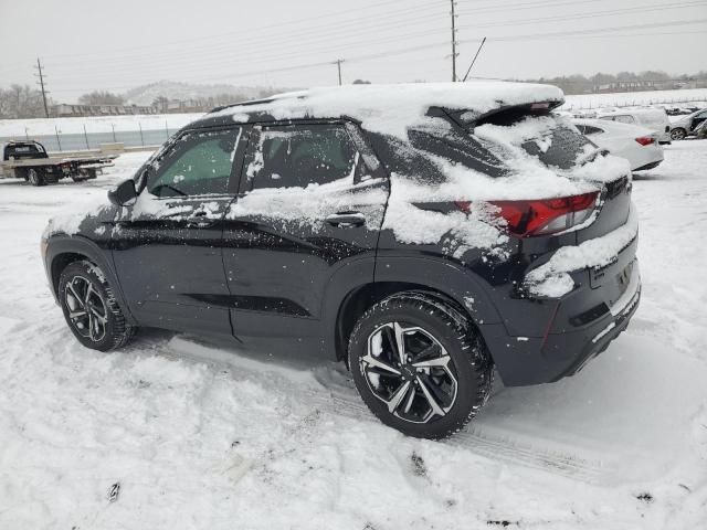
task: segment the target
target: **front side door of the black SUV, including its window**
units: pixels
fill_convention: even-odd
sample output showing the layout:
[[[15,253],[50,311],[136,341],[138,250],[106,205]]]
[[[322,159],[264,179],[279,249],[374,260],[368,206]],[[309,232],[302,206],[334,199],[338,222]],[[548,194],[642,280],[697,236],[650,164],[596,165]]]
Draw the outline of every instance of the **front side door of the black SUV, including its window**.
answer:
[[[182,134],[148,167],[136,203],[120,212],[113,256],[141,325],[231,335],[221,243],[241,131]]]

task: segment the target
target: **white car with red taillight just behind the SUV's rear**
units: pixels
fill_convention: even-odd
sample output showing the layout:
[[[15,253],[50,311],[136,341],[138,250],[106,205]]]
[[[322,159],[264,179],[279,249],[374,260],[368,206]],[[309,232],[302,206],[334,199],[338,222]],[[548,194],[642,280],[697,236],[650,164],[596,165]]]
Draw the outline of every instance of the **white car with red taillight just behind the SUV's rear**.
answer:
[[[598,147],[629,160],[631,171],[653,169],[663,161],[658,136],[650,129],[605,119],[573,119],[572,123]]]

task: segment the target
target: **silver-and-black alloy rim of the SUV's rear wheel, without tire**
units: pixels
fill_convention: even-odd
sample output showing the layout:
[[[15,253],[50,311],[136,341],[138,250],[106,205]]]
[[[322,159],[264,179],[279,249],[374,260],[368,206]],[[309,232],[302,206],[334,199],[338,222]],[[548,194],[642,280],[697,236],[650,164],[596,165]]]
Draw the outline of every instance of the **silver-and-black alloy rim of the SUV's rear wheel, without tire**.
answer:
[[[394,416],[428,423],[456,401],[454,362],[437,339],[419,326],[387,322],[368,337],[360,358],[370,391]]]

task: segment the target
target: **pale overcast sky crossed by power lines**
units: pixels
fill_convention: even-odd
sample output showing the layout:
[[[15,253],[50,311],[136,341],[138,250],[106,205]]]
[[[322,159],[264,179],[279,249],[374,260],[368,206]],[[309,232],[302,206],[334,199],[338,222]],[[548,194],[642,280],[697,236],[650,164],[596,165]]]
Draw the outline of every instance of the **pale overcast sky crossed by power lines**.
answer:
[[[476,76],[707,70],[707,0],[457,0],[456,10],[462,75],[483,36]],[[38,56],[59,102],[159,80],[336,84],[336,59],[344,83],[450,81],[450,41],[449,0],[0,0],[0,86],[34,83]]]

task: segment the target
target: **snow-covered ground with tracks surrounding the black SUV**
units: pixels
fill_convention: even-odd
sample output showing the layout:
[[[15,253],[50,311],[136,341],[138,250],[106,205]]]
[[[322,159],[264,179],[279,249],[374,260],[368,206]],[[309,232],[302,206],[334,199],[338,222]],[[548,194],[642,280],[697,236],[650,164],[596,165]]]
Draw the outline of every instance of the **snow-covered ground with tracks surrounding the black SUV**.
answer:
[[[573,378],[498,385],[442,443],[384,427],[334,363],[161,331],[84,349],[40,234],[147,155],[82,184],[0,181],[0,528],[707,528],[707,141],[665,155],[634,182],[629,330]]]

